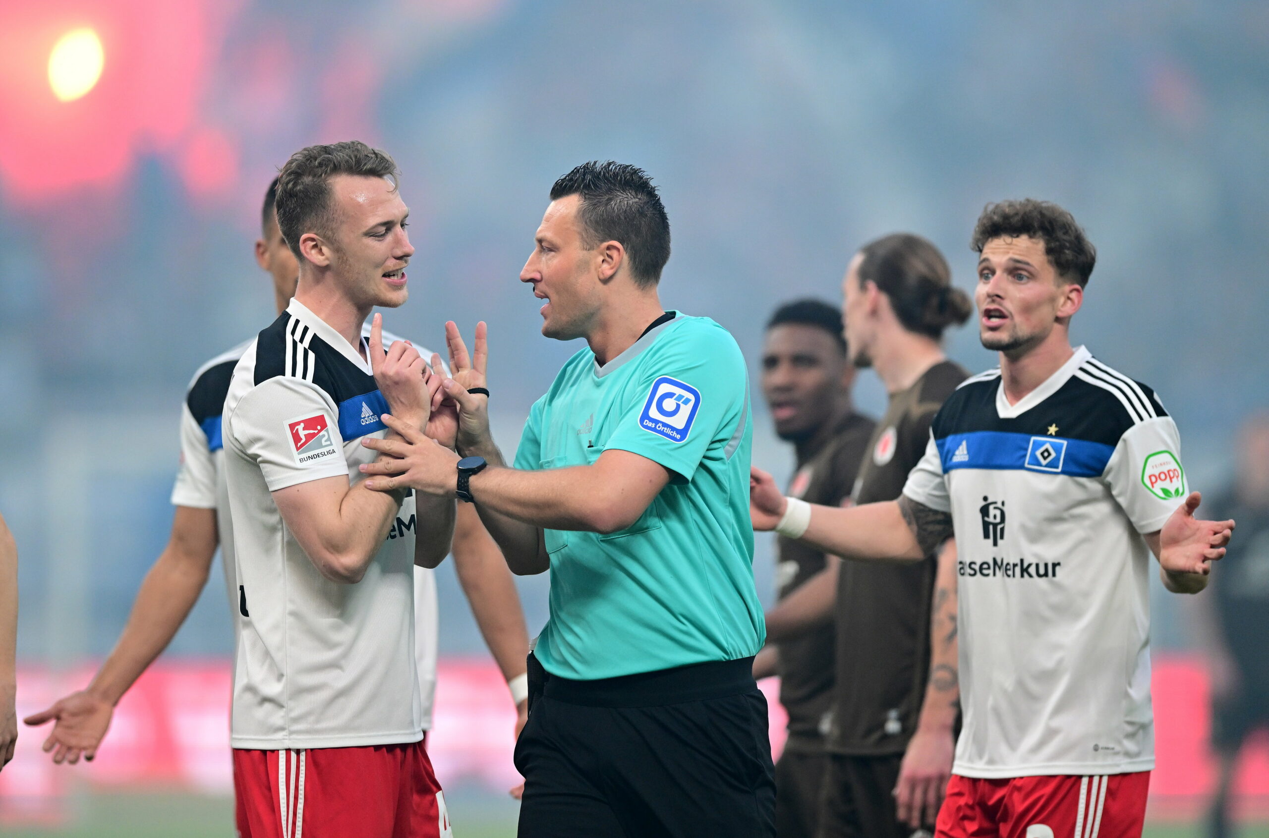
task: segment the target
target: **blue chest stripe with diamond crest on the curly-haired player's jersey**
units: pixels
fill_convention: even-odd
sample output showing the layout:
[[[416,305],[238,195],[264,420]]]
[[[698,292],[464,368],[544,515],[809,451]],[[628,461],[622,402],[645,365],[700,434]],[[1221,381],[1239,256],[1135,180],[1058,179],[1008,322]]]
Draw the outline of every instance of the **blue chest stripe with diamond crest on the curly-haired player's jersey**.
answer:
[[[1028,470],[1067,477],[1100,477],[1114,454],[1103,442],[1005,431],[952,434],[935,440],[943,473],[953,469]]]

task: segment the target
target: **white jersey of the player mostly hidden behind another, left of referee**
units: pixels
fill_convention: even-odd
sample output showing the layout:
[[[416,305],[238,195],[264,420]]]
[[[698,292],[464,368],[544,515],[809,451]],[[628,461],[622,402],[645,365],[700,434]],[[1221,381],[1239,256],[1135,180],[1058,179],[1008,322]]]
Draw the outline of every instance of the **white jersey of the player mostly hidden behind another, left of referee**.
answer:
[[[369,322],[362,328],[371,336]],[[398,340],[385,331],[383,345]],[[230,522],[230,500],[225,487],[225,444],[221,436],[221,415],[230,392],[230,379],[239,359],[251,346],[244,341],[198,368],[185,390],[185,403],[180,416],[180,469],[171,489],[173,506],[195,510],[216,510],[216,526],[221,540],[221,567],[225,572],[225,591],[233,625],[233,645],[237,647],[239,615],[244,610],[242,592],[239,590],[233,568],[233,526]],[[431,351],[415,344],[424,358]],[[415,659],[419,664],[419,690],[423,700],[423,729],[431,729],[431,707],[437,696],[437,657],[440,615],[437,602],[435,572],[415,567]]]

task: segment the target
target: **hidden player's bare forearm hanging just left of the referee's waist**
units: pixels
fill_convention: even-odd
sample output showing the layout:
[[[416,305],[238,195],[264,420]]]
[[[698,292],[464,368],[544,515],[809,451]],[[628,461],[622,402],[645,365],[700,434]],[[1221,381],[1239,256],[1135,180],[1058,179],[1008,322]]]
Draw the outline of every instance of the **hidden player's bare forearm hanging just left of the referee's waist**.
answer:
[[[454,525],[454,569],[467,595],[476,625],[490,654],[508,681],[524,674],[529,654],[529,633],[515,582],[497,544],[481,525],[471,507],[458,510]]]

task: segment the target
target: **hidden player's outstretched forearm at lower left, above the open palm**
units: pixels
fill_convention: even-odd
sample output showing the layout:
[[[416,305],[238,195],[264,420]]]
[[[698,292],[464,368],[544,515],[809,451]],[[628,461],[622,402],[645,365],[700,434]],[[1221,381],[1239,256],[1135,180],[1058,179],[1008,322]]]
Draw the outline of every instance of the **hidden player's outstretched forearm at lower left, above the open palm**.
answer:
[[[216,553],[183,549],[174,539],[146,573],[128,622],[89,691],[114,705],[168,648],[198,601]]]

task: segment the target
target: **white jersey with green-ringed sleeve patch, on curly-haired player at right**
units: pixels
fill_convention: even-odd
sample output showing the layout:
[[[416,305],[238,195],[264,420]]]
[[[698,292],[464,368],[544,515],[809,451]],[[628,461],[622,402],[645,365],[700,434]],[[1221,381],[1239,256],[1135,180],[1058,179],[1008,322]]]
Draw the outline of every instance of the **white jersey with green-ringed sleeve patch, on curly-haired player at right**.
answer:
[[[1000,370],[934,418],[904,494],[950,511],[966,777],[1155,764],[1150,549],[1187,492],[1154,390],[1082,346],[1016,404]]]

